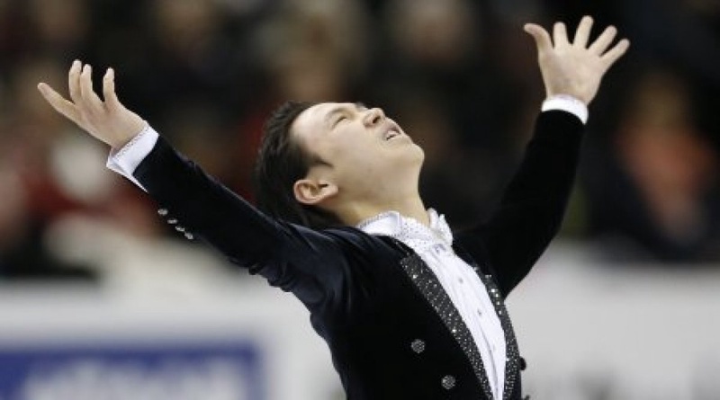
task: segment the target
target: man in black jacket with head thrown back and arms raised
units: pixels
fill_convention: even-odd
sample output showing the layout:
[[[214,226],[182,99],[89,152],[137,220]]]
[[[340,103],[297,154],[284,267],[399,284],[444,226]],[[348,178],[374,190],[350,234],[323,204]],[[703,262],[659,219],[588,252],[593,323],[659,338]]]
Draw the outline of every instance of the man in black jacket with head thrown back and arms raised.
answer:
[[[518,174],[491,221],[456,236],[426,209],[423,152],[379,109],[289,103],[268,120],[254,208],[178,156],[114,93],[102,101],[90,66],[69,72],[71,101],[48,102],[112,147],[108,165],[163,207],[188,238],[293,292],[328,342],[351,399],[519,399],[518,353],[503,305],[560,226],[587,104],[629,46],[608,50],[609,27],[588,46],[592,20],[572,42],[527,24],[547,100]],[[554,42],[553,42],[554,41]]]

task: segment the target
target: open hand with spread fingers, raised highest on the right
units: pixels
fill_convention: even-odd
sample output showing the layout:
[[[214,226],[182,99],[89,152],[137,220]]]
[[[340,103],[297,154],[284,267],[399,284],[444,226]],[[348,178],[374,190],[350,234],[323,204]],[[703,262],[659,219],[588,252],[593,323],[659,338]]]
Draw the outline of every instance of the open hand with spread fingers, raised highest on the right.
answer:
[[[630,46],[630,41],[623,39],[608,50],[617,34],[614,26],[606,28],[588,46],[591,28],[592,18],[583,17],[571,43],[563,22],[555,22],[553,40],[543,27],[535,23],[525,25],[525,31],[536,41],[538,63],[548,97],[569,94],[590,104],[608,68]]]

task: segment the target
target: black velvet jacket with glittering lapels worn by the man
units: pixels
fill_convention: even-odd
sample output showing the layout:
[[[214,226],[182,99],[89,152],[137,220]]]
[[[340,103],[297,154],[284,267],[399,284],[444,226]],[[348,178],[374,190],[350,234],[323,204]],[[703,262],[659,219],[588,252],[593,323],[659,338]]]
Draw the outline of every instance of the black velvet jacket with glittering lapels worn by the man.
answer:
[[[503,299],[560,227],[581,131],[572,114],[540,114],[498,211],[455,234],[455,252],[489,289],[505,330],[504,399],[520,398],[521,359]],[[134,176],[168,217],[302,301],[349,399],[492,398],[470,331],[410,248],[354,227],[317,231],[268,218],[162,138]]]

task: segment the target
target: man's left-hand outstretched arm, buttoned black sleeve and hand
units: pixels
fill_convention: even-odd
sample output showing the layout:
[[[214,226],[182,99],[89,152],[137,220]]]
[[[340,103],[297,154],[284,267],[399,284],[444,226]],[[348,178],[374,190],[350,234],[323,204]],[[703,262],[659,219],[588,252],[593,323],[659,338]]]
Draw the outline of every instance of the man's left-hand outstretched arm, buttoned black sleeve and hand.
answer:
[[[55,110],[115,151],[132,147],[140,132],[154,134],[118,100],[112,69],[103,77],[104,100],[93,91],[90,66],[74,62],[68,81],[70,100],[48,84],[38,88]],[[293,291],[303,302],[321,301],[341,288],[347,260],[333,236],[266,217],[177,154],[163,138],[152,145],[130,173],[193,234],[272,285]],[[328,276],[317,279],[320,274]]]

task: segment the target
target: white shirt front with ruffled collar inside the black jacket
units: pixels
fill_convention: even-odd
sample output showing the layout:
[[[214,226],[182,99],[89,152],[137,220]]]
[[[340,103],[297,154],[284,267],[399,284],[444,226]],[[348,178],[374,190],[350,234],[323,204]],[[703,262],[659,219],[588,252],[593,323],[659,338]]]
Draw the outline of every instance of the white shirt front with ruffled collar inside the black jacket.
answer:
[[[453,234],[443,216],[428,209],[430,226],[397,211],[383,212],[357,225],[370,235],[391,236],[407,244],[428,264],[467,325],[482,357],[492,395],[505,388],[506,341],[500,317],[477,272],[453,251]]]

